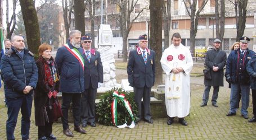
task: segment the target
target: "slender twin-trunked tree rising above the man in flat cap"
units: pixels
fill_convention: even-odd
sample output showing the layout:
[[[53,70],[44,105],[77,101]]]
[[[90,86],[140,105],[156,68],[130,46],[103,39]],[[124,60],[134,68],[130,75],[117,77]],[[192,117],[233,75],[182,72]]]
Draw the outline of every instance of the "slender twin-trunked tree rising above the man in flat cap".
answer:
[[[221,6],[221,22],[219,22],[219,6]],[[221,1],[221,4],[219,5],[219,0],[215,0],[215,23],[216,38],[222,41],[225,31],[225,1]],[[221,29],[219,29],[219,25],[221,25]]]

